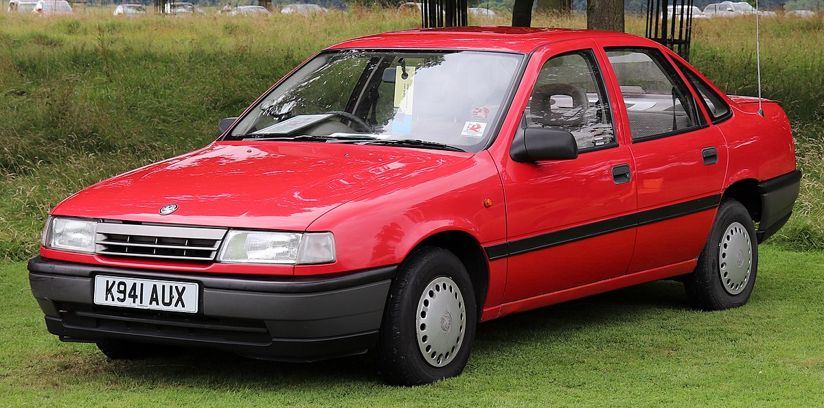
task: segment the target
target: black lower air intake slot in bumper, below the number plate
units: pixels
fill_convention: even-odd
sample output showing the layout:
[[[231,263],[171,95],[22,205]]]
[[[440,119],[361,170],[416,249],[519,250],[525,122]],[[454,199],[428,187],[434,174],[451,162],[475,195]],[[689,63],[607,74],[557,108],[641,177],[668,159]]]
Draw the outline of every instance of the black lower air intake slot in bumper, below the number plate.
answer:
[[[265,323],[259,320],[178,316],[175,313],[70,303],[57,306],[66,327],[222,344],[269,345],[272,342]]]

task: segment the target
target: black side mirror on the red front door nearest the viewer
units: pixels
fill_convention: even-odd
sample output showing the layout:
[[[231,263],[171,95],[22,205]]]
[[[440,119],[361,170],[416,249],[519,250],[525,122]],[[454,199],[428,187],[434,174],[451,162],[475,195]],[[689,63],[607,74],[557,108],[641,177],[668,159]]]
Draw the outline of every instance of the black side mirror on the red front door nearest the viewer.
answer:
[[[572,160],[578,157],[578,142],[560,127],[527,127],[515,135],[509,156],[518,163]]]

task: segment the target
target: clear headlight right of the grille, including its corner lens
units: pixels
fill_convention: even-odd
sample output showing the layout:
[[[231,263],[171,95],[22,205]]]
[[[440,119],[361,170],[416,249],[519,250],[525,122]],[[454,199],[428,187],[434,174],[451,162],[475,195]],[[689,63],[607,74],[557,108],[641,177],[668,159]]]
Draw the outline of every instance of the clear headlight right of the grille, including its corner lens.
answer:
[[[219,262],[305,265],[335,262],[331,233],[231,230],[223,239]]]

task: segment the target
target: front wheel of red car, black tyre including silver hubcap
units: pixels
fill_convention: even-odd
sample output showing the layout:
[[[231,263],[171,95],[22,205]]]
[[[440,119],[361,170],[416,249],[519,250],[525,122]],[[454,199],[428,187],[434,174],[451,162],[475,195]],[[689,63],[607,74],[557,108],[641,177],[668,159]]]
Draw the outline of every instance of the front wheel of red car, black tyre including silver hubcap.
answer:
[[[476,324],[475,292],[461,260],[443,248],[419,248],[392,282],[374,350],[378,369],[387,383],[403,386],[456,377]]]

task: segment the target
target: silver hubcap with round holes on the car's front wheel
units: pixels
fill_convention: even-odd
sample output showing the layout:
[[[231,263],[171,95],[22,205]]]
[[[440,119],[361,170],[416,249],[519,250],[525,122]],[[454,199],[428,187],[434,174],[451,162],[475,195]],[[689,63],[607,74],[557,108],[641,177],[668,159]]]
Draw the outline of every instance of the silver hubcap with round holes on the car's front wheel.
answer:
[[[429,282],[418,301],[418,348],[433,367],[449,364],[463,343],[466,305],[455,281],[439,276]]]

